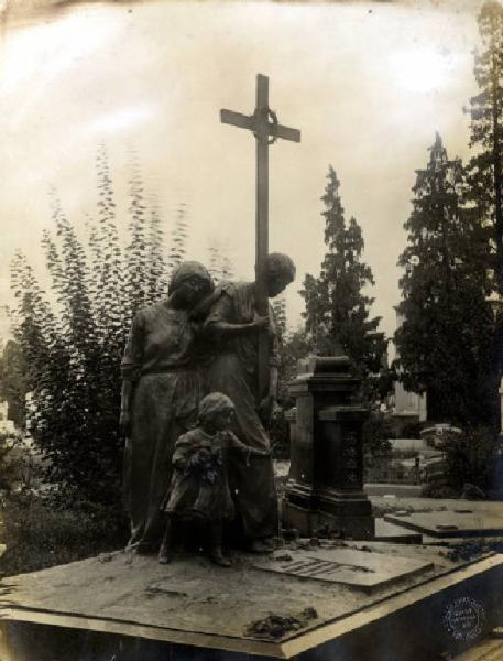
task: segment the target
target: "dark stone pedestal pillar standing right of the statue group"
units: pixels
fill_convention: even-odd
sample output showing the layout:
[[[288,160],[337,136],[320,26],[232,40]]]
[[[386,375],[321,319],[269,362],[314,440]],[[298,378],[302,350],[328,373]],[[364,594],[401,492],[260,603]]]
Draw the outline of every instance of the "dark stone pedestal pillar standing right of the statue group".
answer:
[[[347,356],[315,356],[289,384],[296,410],[289,416],[283,521],[304,537],[374,537],[372,505],[363,491],[362,425],[369,409],[356,402],[359,386]]]

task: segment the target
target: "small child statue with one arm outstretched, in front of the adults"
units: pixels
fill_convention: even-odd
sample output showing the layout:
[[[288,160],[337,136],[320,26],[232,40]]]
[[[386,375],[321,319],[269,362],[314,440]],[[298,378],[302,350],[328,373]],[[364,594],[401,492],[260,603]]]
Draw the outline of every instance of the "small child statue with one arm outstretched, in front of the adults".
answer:
[[[247,447],[230,431],[234,405],[221,392],[211,392],[199,403],[198,426],[178,437],[173,454],[173,477],[166,505],[166,529],[158,562],[172,559],[174,529],[179,519],[204,520],[209,531],[209,555],[215,564],[229,567],[222,555],[223,522],[234,516],[227,477],[227,455],[239,451],[266,456],[263,449]]]

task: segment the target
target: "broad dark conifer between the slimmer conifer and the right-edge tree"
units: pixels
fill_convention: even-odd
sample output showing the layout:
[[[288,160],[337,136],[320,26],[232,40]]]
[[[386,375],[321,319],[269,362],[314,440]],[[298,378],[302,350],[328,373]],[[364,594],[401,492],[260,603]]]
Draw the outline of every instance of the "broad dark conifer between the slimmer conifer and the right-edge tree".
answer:
[[[417,171],[395,335],[401,379],[427,393],[428,419],[485,420],[493,317],[486,301],[489,242],[477,209],[466,203],[466,173],[437,134]]]

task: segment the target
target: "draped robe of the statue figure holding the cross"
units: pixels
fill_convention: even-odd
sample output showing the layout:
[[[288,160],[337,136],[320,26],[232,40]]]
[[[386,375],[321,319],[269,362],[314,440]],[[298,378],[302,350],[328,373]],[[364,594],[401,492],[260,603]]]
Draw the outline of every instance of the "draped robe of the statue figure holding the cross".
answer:
[[[226,337],[219,323],[248,324],[255,315],[255,285],[251,282],[221,284],[220,295],[205,322],[216,339],[216,355],[208,369],[210,391],[223,392],[234,403],[233,432],[249,447],[270,451],[270,440],[256,412],[256,332]],[[270,308],[271,366],[278,366],[278,335]],[[251,456],[247,466],[242,454],[229,457],[229,485],[249,539],[278,532],[277,495],[271,456]]]

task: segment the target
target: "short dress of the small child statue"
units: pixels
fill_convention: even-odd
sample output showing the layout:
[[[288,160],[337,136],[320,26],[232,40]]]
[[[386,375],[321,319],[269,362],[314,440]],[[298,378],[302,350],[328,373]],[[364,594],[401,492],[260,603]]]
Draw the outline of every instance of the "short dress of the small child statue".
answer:
[[[229,431],[210,436],[197,427],[179,436],[173,454],[174,472],[164,508],[167,513],[208,521],[233,518],[234,505],[226,466],[229,448],[248,451]]]

